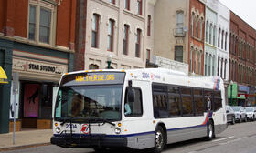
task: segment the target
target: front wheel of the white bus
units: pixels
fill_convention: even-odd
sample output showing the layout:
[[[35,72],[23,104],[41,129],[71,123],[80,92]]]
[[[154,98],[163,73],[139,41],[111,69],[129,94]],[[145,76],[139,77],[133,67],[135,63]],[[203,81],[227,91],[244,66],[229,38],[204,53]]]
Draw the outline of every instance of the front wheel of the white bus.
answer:
[[[155,147],[154,152],[160,153],[165,148],[165,132],[161,126],[155,129]]]

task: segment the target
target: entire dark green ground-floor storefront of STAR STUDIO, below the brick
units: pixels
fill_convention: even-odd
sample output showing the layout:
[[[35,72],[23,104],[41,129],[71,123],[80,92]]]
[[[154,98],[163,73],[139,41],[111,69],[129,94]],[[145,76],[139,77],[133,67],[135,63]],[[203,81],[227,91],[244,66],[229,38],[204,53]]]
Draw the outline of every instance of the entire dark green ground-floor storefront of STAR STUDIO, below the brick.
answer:
[[[6,72],[0,81],[8,82],[0,84],[0,133],[13,131],[14,117],[17,131],[51,128],[59,79],[73,70],[73,53],[0,39],[0,66]],[[19,76],[16,105],[12,89],[15,72]]]

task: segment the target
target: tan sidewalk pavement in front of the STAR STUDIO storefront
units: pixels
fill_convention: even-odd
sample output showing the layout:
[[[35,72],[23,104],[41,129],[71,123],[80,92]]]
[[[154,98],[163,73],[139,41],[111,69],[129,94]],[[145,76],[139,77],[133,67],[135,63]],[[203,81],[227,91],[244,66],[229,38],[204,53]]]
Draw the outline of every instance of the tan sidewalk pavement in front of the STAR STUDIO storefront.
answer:
[[[15,145],[13,145],[13,132],[0,134],[0,152],[19,148],[50,145],[52,129],[37,129],[18,131],[15,133]]]

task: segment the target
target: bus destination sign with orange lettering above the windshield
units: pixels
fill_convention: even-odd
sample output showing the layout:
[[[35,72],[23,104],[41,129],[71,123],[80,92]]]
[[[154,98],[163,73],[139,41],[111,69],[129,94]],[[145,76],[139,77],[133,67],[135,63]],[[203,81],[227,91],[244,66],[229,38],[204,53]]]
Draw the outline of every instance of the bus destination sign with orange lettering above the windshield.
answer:
[[[63,76],[60,86],[122,84],[124,72],[85,72]]]

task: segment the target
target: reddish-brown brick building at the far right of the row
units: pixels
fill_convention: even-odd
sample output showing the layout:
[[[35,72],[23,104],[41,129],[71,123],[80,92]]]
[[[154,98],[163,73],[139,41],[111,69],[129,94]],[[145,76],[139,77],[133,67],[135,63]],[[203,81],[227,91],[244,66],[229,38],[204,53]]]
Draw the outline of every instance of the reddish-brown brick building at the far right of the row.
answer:
[[[255,106],[256,86],[256,30],[230,11],[229,34],[229,80],[233,86],[232,101],[229,104]],[[230,90],[230,87],[229,87]]]

